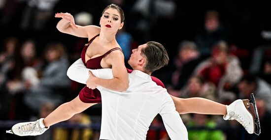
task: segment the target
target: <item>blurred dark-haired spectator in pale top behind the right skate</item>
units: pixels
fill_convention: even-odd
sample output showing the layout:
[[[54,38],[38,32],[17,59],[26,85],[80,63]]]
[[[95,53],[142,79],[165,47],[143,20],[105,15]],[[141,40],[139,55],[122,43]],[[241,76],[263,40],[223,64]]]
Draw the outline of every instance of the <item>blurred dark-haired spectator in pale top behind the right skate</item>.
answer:
[[[266,81],[255,75],[247,74],[241,78],[238,89],[241,99],[250,99],[250,94],[254,93],[255,98],[265,100],[267,110],[271,111],[271,86]]]

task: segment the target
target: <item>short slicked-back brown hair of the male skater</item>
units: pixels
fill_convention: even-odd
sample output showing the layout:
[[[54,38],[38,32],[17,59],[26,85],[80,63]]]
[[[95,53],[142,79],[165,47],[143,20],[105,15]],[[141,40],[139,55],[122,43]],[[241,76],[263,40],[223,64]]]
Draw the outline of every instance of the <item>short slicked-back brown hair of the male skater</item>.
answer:
[[[145,56],[147,62],[144,66],[146,72],[154,72],[161,67],[168,65],[169,56],[164,46],[158,42],[149,41],[147,47],[141,50],[141,55]]]

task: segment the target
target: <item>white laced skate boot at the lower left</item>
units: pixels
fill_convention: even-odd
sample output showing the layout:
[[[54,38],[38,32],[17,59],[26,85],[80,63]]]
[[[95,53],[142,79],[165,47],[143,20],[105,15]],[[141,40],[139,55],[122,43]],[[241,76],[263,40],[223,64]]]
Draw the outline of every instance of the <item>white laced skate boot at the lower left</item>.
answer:
[[[12,126],[6,133],[18,136],[37,136],[43,134],[48,128],[43,124],[43,118],[31,122],[21,122]]]

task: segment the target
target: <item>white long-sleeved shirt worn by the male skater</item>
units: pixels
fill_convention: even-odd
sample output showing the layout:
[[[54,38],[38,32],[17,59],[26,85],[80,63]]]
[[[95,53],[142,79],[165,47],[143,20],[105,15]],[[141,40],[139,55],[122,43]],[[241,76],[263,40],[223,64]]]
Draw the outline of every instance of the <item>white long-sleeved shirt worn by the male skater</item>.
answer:
[[[102,79],[112,79],[111,69],[87,69],[81,59],[68,69],[71,80],[86,84],[88,71]],[[187,129],[176,112],[173,100],[151,76],[138,70],[129,74],[126,91],[113,91],[97,86],[102,95],[102,123],[100,139],[146,140],[147,131],[159,113],[171,140],[188,140]]]

